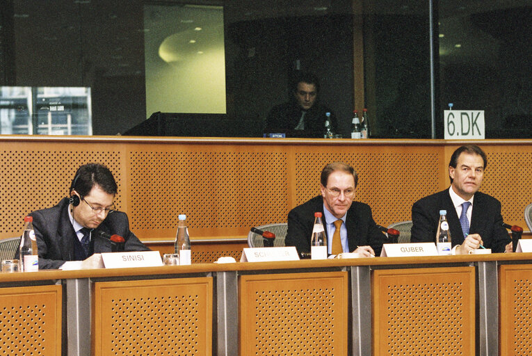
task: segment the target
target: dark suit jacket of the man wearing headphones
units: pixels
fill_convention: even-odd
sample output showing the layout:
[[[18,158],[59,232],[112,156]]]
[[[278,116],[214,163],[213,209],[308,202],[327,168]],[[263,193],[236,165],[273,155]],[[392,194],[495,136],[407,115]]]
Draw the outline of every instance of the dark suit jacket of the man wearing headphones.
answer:
[[[59,204],[49,209],[33,211],[33,229],[39,250],[39,269],[59,268],[65,261],[74,260],[74,227],[68,217],[69,204],[63,198]],[[124,251],[150,250],[129,230],[127,215],[113,211],[95,230],[117,234],[124,238]],[[95,236],[94,233],[92,236]],[[111,252],[111,242],[94,238],[94,252]]]

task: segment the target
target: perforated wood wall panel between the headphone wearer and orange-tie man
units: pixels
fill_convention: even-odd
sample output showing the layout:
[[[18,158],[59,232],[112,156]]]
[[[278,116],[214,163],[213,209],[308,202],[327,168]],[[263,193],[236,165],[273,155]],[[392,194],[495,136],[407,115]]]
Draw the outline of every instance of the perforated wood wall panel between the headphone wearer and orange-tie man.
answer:
[[[286,220],[286,154],[219,146],[182,152],[186,148],[129,153],[132,229],[175,234],[179,213],[186,213],[195,237]]]

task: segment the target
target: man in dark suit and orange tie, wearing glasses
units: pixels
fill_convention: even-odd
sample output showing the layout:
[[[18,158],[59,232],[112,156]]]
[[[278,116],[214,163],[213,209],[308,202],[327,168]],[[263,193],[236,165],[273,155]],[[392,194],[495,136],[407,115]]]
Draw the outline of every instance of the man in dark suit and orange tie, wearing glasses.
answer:
[[[321,196],[292,209],[288,214],[285,243],[298,252],[310,252],[314,213],[321,212],[328,253],[359,252],[363,257],[380,254],[386,236],[380,232],[369,205],[353,202],[358,176],[345,163],[330,163],[321,171]]]

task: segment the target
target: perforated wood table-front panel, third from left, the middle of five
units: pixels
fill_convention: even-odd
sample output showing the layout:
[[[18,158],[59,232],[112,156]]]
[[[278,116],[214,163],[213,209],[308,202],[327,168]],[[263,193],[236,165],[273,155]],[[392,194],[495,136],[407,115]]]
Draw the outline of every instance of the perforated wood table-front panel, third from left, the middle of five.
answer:
[[[347,355],[346,272],[244,275],[240,355]]]

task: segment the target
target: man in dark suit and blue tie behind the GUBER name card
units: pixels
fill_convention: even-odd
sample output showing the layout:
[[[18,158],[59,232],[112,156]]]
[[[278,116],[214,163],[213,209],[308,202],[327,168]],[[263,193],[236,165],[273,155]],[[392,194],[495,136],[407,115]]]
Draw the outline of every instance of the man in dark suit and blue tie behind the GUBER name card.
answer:
[[[512,252],[503,227],[501,203],[481,188],[487,157],[477,145],[461,146],[449,162],[451,186],[412,206],[412,242],[436,242],[440,209],[447,211],[454,254],[467,254],[483,245],[492,252]]]

